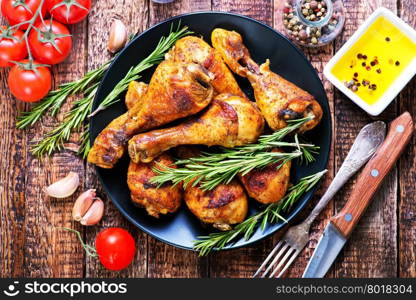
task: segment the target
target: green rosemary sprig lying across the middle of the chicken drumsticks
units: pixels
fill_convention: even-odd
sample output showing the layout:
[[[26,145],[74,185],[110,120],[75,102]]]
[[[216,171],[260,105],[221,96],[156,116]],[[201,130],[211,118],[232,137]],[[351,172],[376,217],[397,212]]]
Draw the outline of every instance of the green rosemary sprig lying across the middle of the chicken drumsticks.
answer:
[[[202,189],[211,190],[218,184],[229,183],[239,173],[245,175],[253,169],[263,168],[272,163],[282,165],[302,156],[310,162],[314,159],[313,154],[319,147],[312,144],[300,144],[297,136],[295,136],[295,143],[281,141],[309,120],[310,118],[293,120],[289,126],[260,137],[254,144],[234,149],[223,148],[220,153],[203,153],[200,157],[178,160],[175,164],[180,165],[180,168],[159,166],[159,168],[154,168],[157,176],[153,177],[151,182],[158,185],[166,182],[173,184],[183,182],[184,187],[190,183],[192,186],[200,184]],[[270,152],[272,148],[282,146],[296,147],[296,150],[288,153]]]

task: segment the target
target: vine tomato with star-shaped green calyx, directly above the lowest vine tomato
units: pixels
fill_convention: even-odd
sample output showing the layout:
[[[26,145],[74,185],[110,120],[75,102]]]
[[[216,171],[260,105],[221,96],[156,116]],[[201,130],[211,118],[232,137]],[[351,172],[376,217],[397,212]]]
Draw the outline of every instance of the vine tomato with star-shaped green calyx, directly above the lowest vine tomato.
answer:
[[[65,60],[72,47],[68,28],[55,20],[38,22],[35,27],[38,30],[32,29],[29,33],[29,46],[35,60],[48,65]]]

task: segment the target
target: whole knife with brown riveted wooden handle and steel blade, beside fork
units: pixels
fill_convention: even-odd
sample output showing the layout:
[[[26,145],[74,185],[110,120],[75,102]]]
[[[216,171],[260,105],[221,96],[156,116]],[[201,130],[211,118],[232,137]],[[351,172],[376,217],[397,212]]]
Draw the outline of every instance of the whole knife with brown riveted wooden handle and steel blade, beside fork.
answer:
[[[306,266],[303,278],[322,278],[344,247],[383,178],[409,143],[414,131],[408,112],[394,119],[386,139],[367,163],[342,210],[330,219]]]

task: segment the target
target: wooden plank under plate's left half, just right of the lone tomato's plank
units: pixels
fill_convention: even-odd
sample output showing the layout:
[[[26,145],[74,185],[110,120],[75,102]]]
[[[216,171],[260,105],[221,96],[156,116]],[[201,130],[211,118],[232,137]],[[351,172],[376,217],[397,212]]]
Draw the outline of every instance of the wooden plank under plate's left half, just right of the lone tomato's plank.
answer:
[[[206,0],[177,0],[169,4],[150,3],[150,25],[192,11],[210,10]],[[207,277],[208,259],[195,252],[182,250],[148,236],[148,277]]]

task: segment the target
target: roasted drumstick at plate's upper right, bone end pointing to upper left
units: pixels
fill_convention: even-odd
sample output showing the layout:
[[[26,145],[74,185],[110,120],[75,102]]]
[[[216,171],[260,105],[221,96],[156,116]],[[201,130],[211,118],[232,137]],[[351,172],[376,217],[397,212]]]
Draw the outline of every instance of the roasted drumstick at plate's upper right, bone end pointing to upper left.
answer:
[[[250,57],[240,34],[216,28],[211,34],[212,45],[230,69],[250,81],[257,105],[273,130],[287,126],[291,119],[312,116],[299,128],[314,128],[322,118],[322,108],[312,95],[270,71],[269,60],[258,66]]]

